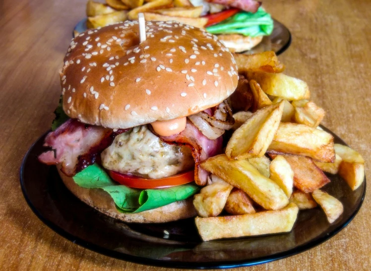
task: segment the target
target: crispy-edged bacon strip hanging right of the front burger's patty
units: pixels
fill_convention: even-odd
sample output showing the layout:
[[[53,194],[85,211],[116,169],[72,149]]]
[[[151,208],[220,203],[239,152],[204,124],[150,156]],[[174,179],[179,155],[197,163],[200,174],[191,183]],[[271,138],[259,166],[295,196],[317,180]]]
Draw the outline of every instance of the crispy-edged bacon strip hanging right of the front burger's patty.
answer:
[[[198,185],[206,185],[209,173],[200,167],[200,162],[222,152],[223,138],[208,139],[189,120],[187,120],[186,129],[181,133],[160,138],[166,143],[186,145],[192,149],[195,162],[194,181]]]

